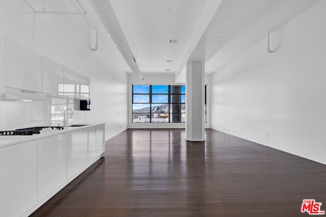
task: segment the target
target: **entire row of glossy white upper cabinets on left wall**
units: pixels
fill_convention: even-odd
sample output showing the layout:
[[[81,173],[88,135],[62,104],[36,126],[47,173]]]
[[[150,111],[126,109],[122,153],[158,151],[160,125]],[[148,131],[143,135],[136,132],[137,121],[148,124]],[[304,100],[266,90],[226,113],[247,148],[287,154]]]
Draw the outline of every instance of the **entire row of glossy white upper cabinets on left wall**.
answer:
[[[90,78],[3,36],[0,36],[0,78],[0,99],[8,91],[5,87],[67,99],[90,98]]]

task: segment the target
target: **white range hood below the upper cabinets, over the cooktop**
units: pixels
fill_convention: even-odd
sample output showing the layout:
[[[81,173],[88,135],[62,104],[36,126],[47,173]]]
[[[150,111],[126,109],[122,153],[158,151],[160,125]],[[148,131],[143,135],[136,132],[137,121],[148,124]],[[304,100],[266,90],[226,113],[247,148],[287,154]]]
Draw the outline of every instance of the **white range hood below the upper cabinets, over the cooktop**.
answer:
[[[38,92],[34,90],[19,89],[14,87],[5,86],[5,93],[1,100],[9,101],[39,101],[39,102],[49,102],[50,99],[44,92]]]

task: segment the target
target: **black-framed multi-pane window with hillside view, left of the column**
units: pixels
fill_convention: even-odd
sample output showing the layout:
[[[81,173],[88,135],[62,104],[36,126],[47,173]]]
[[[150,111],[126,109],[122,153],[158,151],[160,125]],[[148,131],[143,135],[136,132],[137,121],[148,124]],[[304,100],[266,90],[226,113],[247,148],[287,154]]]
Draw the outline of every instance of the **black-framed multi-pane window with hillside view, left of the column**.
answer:
[[[185,122],[185,86],[132,85],[132,122]]]

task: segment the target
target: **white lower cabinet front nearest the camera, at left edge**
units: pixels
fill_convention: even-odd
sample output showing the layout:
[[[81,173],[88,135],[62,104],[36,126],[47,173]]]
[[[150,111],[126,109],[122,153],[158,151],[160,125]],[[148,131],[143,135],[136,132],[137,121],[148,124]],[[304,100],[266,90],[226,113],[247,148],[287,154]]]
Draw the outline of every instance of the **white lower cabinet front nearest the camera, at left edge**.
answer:
[[[37,140],[0,148],[0,165],[0,216],[20,216],[37,203]]]

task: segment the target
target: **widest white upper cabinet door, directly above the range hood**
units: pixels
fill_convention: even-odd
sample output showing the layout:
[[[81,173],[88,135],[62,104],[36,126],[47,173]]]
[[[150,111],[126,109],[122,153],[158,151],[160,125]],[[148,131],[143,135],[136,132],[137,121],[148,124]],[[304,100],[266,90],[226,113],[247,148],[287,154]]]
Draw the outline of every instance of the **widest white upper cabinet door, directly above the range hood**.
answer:
[[[41,91],[41,55],[6,39],[5,86]]]

